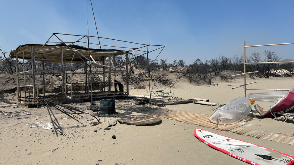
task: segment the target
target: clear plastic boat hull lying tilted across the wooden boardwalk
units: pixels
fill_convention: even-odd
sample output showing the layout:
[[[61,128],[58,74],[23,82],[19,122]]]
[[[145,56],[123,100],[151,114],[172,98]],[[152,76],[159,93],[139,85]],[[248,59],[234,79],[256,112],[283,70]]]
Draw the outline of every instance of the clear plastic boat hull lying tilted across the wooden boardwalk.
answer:
[[[251,111],[251,103],[247,97],[239,97],[218,108],[209,120],[216,124],[235,124],[245,118]]]

